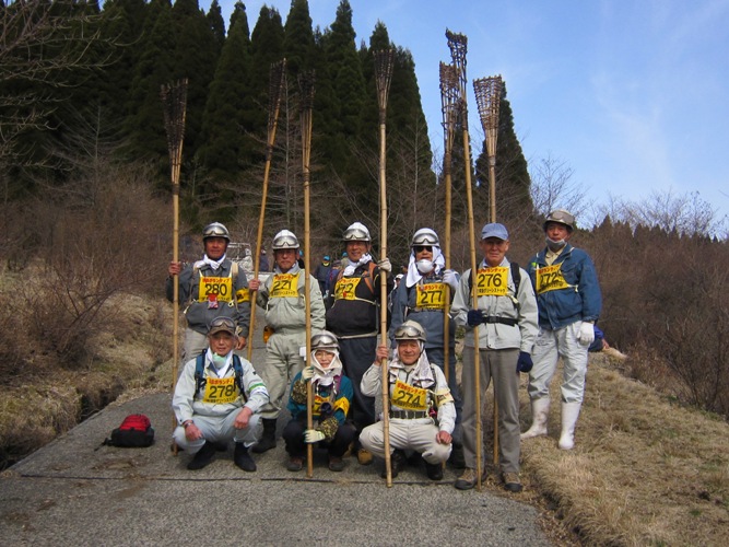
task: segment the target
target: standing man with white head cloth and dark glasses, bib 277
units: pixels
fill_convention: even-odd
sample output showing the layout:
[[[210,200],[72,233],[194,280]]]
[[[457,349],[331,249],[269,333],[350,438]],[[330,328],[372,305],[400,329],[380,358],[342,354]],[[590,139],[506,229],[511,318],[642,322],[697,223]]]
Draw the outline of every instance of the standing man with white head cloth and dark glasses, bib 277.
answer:
[[[392,298],[392,323],[390,339],[405,319],[418,322],[425,329],[425,353],[431,363],[445,371],[444,314],[446,310],[446,287],[450,288],[450,302],[458,289],[459,276],[445,268],[440,253],[438,234],[430,228],[422,228],[413,235],[408,264],[408,274],[400,282]],[[448,304],[450,304],[448,302]],[[456,405],[456,430],[451,465],[462,468],[463,445],[460,437],[461,399],[456,377],[456,324],[449,323],[448,336],[448,387]]]

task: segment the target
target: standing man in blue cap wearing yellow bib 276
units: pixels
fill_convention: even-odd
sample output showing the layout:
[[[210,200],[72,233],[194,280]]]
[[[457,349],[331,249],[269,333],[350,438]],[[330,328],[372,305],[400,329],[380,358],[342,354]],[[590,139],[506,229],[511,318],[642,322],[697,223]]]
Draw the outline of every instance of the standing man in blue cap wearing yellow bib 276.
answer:
[[[527,272],[506,259],[509,248],[504,224],[483,226],[479,247],[483,260],[475,279],[471,270],[463,272],[451,306],[457,325],[466,327],[463,345],[463,456],[466,469],[454,485],[459,490],[475,486],[475,348],[474,331],[479,334],[479,374],[482,397],[491,380],[498,404],[498,464],[504,487],[521,491],[519,480],[519,372],[531,369],[531,350],[537,338],[537,296]],[[473,283],[478,302],[473,305]]]

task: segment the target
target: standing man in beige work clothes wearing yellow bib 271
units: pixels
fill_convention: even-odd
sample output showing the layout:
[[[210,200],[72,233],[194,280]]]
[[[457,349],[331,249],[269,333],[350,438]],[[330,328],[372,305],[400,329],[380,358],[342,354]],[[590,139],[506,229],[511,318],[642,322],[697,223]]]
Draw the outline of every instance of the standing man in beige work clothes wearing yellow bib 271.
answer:
[[[277,420],[284,404],[286,389],[304,366],[301,348],[306,346],[306,272],[299,268],[298,238],[282,230],[273,237],[273,274],[261,283],[251,279],[249,287],[257,293],[257,303],[266,310],[266,362],[256,371],[266,382],[270,403],[261,411],[263,435],[254,446],[262,453],[275,446]],[[325,310],[319,283],[309,275],[311,331],[325,327]]]

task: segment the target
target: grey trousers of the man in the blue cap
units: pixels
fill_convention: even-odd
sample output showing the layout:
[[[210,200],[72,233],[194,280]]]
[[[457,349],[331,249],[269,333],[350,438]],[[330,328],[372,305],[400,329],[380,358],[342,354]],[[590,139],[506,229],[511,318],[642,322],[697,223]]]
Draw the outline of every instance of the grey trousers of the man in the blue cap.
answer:
[[[481,386],[481,405],[485,400],[486,389],[494,381],[494,393],[498,405],[498,465],[502,473],[519,473],[519,373],[516,363],[519,359],[518,349],[480,349],[479,385]],[[477,468],[477,442],[484,447],[483,439],[475,438],[475,349],[463,348],[463,456],[466,467]],[[483,420],[483,412],[481,412]],[[483,434],[483,428],[481,428]],[[484,450],[481,458],[484,459]]]

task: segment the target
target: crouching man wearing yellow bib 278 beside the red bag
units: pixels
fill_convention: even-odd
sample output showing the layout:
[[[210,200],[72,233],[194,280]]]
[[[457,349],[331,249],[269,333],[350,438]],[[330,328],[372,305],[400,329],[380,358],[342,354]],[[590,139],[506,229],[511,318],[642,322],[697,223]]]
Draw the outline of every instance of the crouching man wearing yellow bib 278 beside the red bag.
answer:
[[[188,469],[202,469],[215,446],[235,441],[234,461],[244,472],[255,472],[248,449],[261,435],[259,409],[269,400],[263,381],[252,364],[233,353],[235,323],[230,317],[212,321],[210,347],[185,363],[173,396],[178,427],[177,446],[192,454]]]

